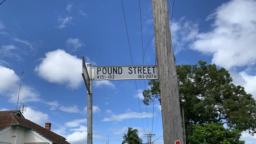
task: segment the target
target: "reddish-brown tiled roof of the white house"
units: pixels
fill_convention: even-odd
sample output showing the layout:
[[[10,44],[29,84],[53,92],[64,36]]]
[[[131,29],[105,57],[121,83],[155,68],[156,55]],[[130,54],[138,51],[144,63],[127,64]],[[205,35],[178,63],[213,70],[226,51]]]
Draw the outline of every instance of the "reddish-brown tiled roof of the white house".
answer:
[[[22,116],[20,111],[0,111],[0,131],[12,125],[29,127],[53,143],[70,144],[64,137],[45,129],[44,127],[41,127],[30,120],[27,120]]]

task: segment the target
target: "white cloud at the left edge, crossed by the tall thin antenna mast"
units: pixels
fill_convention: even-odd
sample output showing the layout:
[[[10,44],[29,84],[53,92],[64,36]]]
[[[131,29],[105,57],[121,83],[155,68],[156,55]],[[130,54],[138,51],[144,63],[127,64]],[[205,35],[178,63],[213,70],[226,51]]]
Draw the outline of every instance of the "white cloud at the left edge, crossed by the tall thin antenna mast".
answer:
[[[0,66],[0,94],[7,95],[9,102],[17,103],[17,93],[19,92],[20,79],[14,70]],[[20,89],[19,102],[39,101],[39,92],[33,87],[22,83]]]

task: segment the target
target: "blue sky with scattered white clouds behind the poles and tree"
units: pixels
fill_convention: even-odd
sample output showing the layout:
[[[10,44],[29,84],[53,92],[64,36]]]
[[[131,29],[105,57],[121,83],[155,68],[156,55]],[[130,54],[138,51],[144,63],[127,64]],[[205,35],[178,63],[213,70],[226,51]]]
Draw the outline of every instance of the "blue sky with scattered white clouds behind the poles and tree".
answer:
[[[142,65],[139,1],[123,2],[133,63]],[[177,64],[216,63],[229,70],[234,83],[255,98],[255,7],[255,0],[175,1],[171,34]],[[24,70],[19,103],[28,105],[25,118],[41,126],[51,122],[52,131],[70,143],[85,143],[86,88],[81,55],[93,66],[132,64],[121,0],[6,0],[0,13],[0,109],[16,108],[19,77]],[[154,34],[150,0],[141,0],[141,15],[145,49]],[[154,64],[152,39],[145,65]],[[144,140],[144,129],[152,131],[153,115],[153,131],[156,129],[156,136],[163,135],[159,102],[146,109],[141,97],[144,81],[137,81],[137,85],[144,128],[133,80],[94,81],[95,144],[105,143],[108,135],[109,143],[119,144],[129,126],[139,129]],[[243,133],[241,139],[253,138]]]

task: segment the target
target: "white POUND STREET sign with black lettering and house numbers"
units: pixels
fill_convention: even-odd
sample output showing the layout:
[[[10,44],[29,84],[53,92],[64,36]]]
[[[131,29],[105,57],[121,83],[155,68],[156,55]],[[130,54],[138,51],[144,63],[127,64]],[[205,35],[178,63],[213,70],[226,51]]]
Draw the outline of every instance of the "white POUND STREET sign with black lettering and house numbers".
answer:
[[[93,66],[93,80],[158,79],[158,67],[153,66]]]

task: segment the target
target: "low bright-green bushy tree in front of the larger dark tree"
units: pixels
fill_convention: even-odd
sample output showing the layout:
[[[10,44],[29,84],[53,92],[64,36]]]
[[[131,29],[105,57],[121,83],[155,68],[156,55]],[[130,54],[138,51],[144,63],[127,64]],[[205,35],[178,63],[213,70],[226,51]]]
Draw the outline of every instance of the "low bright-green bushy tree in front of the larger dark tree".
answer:
[[[203,126],[193,125],[192,129],[193,134],[187,138],[189,144],[245,144],[245,141],[239,140],[241,131],[230,131],[220,122]]]

